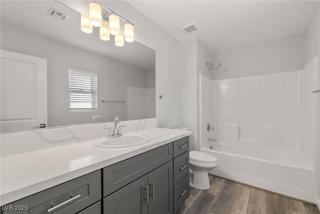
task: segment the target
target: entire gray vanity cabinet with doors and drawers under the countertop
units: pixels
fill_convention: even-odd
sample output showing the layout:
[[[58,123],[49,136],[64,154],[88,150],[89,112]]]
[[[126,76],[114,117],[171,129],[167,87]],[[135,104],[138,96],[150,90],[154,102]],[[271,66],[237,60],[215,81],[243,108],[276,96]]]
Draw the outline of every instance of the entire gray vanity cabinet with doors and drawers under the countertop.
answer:
[[[188,148],[184,137],[1,206],[0,213],[176,213],[189,194]]]

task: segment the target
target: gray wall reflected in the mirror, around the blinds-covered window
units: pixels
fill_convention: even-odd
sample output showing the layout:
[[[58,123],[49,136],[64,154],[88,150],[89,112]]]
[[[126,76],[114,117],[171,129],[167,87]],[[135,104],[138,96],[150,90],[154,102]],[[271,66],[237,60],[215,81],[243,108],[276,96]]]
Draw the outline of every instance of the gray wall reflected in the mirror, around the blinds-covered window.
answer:
[[[102,121],[112,121],[114,116],[126,120],[126,103],[101,103],[101,100],[126,100],[127,85],[146,88],[144,69],[4,25],[1,25],[1,49],[47,59],[48,126],[50,127],[89,123],[92,115],[100,115]],[[68,68],[97,73],[96,112],[68,111]]]

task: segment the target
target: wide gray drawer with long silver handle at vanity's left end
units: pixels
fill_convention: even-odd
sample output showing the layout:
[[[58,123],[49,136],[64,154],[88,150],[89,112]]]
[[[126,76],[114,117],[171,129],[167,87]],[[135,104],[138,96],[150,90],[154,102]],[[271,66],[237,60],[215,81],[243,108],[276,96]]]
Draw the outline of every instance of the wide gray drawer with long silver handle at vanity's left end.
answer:
[[[97,170],[4,205],[1,209],[3,214],[76,213],[99,199],[101,199],[101,171]],[[24,210],[21,210],[23,208]]]

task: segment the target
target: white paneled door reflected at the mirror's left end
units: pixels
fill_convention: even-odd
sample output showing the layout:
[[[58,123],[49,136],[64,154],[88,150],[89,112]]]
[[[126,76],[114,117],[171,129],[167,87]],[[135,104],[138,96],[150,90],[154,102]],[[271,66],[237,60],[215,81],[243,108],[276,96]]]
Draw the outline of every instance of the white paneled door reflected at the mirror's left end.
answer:
[[[0,58],[0,131],[46,126],[46,59],[3,50]]]

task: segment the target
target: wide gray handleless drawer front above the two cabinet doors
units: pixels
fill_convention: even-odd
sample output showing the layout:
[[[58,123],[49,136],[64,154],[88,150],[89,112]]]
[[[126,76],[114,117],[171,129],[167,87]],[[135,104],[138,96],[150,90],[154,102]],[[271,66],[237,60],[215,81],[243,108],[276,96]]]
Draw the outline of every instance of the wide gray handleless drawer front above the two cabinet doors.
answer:
[[[172,160],[172,143],[103,168],[103,197]]]

